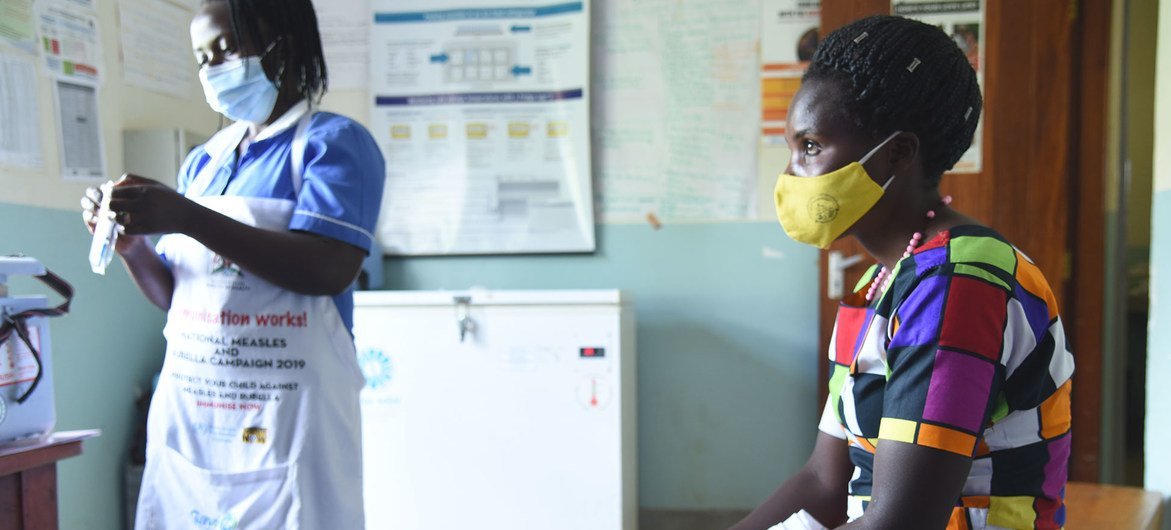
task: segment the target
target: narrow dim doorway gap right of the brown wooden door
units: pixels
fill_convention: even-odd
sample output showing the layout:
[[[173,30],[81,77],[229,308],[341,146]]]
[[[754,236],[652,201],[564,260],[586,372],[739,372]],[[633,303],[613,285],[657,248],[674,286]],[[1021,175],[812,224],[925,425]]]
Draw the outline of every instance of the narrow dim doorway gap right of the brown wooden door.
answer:
[[[1143,486],[1158,0],[1115,6],[1102,481]]]

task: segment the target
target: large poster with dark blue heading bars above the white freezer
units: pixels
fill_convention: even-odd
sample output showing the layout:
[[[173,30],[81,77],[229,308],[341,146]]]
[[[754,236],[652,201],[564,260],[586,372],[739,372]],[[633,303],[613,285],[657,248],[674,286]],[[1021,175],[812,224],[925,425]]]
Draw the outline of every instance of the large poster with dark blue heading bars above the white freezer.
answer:
[[[591,252],[589,4],[375,0],[386,254]]]

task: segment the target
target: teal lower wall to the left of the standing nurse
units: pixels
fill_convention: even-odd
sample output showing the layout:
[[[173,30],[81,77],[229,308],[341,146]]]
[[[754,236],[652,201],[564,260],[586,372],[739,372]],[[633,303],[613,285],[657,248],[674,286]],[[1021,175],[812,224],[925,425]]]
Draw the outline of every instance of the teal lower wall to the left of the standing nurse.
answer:
[[[122,476],[133,431],[135,399],[163,362],[163,311],[149,305],[121,264],[89,270],[89,233],[78,212],[0,204],[0,253],[23,253],[69,281],[71,312],[49,324],[57,431],[100,428],[84,453],[61,462],[62,530],[123,529]],[[50,291],[12,278],[11,292]],[[53,295],[55,296],[55,295]],[[57,298],[53,298],[57,300]]]

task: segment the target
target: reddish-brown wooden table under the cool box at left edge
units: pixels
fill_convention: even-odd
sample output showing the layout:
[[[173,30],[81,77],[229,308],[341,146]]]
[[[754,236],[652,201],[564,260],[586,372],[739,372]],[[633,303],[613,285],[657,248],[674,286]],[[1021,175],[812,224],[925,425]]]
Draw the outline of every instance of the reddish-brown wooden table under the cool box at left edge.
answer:
[[[0,448],[0,528],[57,528],[57,461],[81,454],[96,431],[55,433],[48,439]]]

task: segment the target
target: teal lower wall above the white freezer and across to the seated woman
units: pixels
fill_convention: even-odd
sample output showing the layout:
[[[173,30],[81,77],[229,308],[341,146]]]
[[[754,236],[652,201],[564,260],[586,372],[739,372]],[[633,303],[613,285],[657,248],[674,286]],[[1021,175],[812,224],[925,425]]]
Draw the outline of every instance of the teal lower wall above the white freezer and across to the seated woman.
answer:
[[[598,241],[593,255],[389,259],[384,287],[630,292],[639,503],[754,507],[816,435],[817,253],[775,222],[607,225]]]

